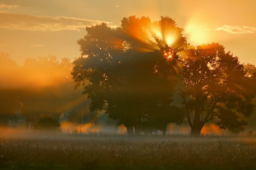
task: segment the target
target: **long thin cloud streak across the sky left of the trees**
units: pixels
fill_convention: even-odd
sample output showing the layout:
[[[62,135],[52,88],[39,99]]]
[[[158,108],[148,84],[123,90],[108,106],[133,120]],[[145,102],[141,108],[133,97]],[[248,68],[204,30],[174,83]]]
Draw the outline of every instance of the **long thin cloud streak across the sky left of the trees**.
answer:
[[[86,26],[92,26],[102,22],[107,23],[109,26],[115,26],[111,22],[73,17],[0,14],[0,28],[29,31],[80,30],[81,28],[86,28]]]

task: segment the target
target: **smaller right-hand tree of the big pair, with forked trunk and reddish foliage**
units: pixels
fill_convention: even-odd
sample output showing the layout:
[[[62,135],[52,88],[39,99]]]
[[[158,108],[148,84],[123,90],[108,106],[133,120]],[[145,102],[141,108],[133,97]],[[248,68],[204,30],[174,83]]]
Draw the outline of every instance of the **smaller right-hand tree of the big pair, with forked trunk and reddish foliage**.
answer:
[[[225,52],[218,43],[187,50],[183,60],[180,96],[186,108],[191,136],[215,121],[222,129],[244,130],[245,118],[253,111],[255,82],[247,76],[237,57]]]

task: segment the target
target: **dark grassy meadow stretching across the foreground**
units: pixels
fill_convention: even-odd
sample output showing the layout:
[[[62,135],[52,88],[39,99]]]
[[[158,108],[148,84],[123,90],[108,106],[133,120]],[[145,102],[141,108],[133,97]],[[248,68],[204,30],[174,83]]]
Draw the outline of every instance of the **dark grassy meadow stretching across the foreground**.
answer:
[[[2,136],[0,169],[256,169],[256,138]]]

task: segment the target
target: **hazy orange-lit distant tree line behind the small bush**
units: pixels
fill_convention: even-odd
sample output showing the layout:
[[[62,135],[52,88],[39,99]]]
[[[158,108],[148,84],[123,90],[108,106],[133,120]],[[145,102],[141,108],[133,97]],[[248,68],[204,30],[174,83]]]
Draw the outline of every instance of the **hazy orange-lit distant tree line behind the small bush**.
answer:
[[[81,96],[82,89],[74,91],[72,68],[68,58],[27,58],[20,66],[9,54],[0,53],[0,127],[25,124],[44,130],[58,127],[60,121],[96,119],[96,114],[88,112],[89,101]]]

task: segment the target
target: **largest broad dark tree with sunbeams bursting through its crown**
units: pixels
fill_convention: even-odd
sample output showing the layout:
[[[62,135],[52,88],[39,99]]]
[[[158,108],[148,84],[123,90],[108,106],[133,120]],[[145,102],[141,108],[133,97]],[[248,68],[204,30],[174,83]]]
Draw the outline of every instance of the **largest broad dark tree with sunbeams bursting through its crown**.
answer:
[[[84,94],[92,101],[90,110],[105,110],[119,120],[117,125],[125,125],[129,135],[134,129],[140,134],[143,121],[154,114],[167,114],[178,71],[178,52],[186,46],[181,32],[169,17],[151,22],[132,16],[115,29],[105,23],[87,27],[87,35],[78,41],[82,57],[74,61],[72,74],[78,86],[84,85]],[[178,122],[182,118],[177,115],[166,120]],[[161,128],[163,133],[167,123]]]

